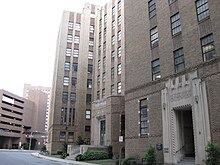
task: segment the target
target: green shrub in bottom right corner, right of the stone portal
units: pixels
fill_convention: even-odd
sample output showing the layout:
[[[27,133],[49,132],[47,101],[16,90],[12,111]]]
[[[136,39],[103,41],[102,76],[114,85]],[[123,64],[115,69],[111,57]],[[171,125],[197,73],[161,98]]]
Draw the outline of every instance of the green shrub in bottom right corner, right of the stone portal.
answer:
[[[207,152],[206,164],[218,165],[220,160],[220,146],[212,142],[209,142],[206,146],[206,152]]]

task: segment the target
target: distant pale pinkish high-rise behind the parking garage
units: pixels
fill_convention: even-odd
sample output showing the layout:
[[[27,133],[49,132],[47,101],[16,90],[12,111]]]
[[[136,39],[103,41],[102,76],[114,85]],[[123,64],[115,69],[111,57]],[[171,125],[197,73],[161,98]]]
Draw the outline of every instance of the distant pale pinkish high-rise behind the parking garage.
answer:
[[[50,87],[43,87],[43,86],[32,86],[31,84],[24,84],[23,89],[23,97],[31,100],[36,103],[36,105],[46,105],[45,110],[43,107],[38,107],[41,109],[42,113],[46,112],[46,118],[44,123],[44,131],[48,130],[48,122],[49,122],[49,106],[50,106]],[[43,93],[42,93],[43,92]],[[45,94],[47,98],[45,99]],[[45,104],[46,101],[46,104]],[[41,123],[43,124],[43,123]],[[42,128],[42,127],[41,127]],[[41,130],[43,131],[43,130]]]

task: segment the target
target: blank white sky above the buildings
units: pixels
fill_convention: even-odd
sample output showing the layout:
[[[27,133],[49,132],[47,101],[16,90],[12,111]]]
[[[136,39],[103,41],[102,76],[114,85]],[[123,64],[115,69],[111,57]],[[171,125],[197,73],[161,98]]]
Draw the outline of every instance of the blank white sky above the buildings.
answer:
[[[109,0],[2,0],[0,89],[23,95],[24,84],[52,86],[56,40],[64,10]]]

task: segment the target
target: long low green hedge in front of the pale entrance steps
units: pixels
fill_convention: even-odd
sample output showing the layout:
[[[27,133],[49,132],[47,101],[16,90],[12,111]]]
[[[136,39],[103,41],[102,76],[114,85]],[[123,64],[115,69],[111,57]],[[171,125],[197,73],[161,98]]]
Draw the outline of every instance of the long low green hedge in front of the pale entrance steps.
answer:
[[[84,154],[79,154],[76,156],[77,161],[100,159],[108,159],[108,153],[103,151],[87,151]]]

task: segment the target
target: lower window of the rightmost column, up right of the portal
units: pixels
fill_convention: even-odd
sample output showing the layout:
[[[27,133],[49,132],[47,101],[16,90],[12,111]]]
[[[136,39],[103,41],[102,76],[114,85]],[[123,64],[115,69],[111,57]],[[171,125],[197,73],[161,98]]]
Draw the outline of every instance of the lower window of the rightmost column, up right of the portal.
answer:
[[[215,45],[213,35],[201,38],[203,61],[208,61],[215,56]]]

